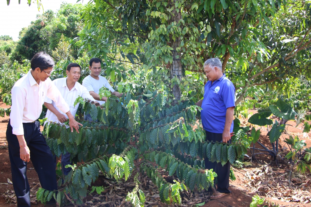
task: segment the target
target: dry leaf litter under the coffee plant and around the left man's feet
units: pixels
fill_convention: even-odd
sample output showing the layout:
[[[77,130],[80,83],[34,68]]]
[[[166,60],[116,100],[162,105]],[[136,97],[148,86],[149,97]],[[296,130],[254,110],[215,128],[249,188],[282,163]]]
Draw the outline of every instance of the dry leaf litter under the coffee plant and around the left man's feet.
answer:
[[[96,191],[94,191],[90,195],[87,194],[86,198],[83,200],[84,204],[77,206],[90,206],[90,207],[131,206],[129,202],[125,201],[125,198],[128,192],[131,192],[135,188],[136,184],[133,182],[133,178],[134,176],[132,175],[127,182],[124,182],[123,179],[122,181],[117,183],[114,182],[114,180],[109,180],[104,176],[100,176],[99,179],[104,181],[106,185],[105,190],[100,195],[98,195]],[[190,191],[183,191],[181,193],[182,203],[180,205],[178,204],[166,205],[161,202],[158,187],[156,187],[156,185],[153,182],[151,182],[150,178],[146,177],[146,175],[142,175],[140,180],[141,180],[140,189],[142,189],[142,191],[146,196],[145,207],[165,207],[165,206],[186,207],[186,206],[194,206],[196,204],[207,202],[208,200],[210,200],[211,193],[205,190],[201,192],[194,190],[193,193],[190,193]],[[9,184],[9,183],[1,183],[1,184]],[[31,198],[30,202],[33,204],[36,204],[38,202],[36,198],[36,193],[39,187],[41,186],[38,183],[30,189],[30,198]],[[91,188],[89,188],[89,190],[90,189]],[[6,193],[3,194],[3,196],[7,200],[6,202],[7,204],[8,203],[16,204],[16,195],[13,190],[7,190]]]

